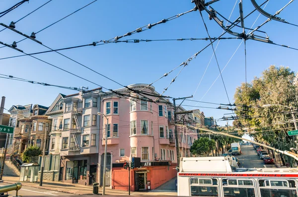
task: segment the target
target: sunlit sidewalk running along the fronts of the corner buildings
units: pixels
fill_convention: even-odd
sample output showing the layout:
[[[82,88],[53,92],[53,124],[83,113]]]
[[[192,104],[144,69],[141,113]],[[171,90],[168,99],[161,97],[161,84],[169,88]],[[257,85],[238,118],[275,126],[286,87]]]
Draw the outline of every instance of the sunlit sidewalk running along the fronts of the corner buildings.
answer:
[[[19,182],[19,177],[11,177],[11,176],[3,176],[3,183],[14,184]],[[31,182],[20,182],[23,186],[28,186],[32,188],[40,188],[45,190],[51,190],[56,192],[65,192],[75,195],[90,195],[93,194],[92,186],[83,186],[78,184],[69,184],[63,182],[52,182],[52,181],[44,181],[43,186],[39,186],[39,183],[31,183]],[[99,195],[102,194],[102,188],[99,188]],[[122,190],[112,190],[106,188],[105,195],[128,195],[128,192]],[[149,192],[131,192],[131,195],[140,195],[140,196],[155,196],[155,195],[166,195],[166,196],[177,196],[177,192],[169,192],[169,191],[158,191],[154,192],[154,190]]]

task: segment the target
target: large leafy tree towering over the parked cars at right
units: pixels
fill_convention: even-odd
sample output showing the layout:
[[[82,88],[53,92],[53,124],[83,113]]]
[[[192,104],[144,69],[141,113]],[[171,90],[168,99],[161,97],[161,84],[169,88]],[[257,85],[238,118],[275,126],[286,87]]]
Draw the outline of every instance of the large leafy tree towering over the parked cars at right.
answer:
[[[234,94],[235,104],[245,111],[236,111],[237,115],[245,115],[245,119],[234,121],[234,126],[247,126],[248,131],[255,131],[251,136],[256,141],[268,144],[280,150],[290,150],[296,147],[295,137],[287,131],[294,129],[290,113],[282,113],[289,109],[278,106],[298,107],[298,87],[293,83],[295,73],[289,67],[270,66],[260,77],[255,77],[251,83],[242,83]],[[266,104],[278,104],[270,108],[262,108]],[[260,106],[250,108],[249,106]],[[286,162],[293,164],[294,159],[284,155]]]

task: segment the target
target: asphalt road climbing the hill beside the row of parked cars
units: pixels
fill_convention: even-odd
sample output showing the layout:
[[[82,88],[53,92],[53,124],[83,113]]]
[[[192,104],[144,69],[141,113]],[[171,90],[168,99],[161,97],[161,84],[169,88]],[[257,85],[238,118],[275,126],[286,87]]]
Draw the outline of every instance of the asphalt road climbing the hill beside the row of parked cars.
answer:
[[[264,164],[257,155],[252,145],[241,145],[241,155],[235,156],[239,159],[239,168],[275,168],[274,164]]]

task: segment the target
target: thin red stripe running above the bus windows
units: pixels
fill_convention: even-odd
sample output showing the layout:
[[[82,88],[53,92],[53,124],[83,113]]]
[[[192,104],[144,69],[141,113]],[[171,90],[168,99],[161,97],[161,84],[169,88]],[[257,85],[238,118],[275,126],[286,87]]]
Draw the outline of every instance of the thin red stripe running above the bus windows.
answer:
[[[211,176],[211,177],[298,177],[298,174],[179,173],[179,176]]]

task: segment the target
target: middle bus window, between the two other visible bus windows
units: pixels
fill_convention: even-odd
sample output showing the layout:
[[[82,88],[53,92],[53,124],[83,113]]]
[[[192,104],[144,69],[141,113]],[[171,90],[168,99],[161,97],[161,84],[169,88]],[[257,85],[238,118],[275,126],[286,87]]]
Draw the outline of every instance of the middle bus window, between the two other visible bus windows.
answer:
[[[254,184],[251,180],[223,179],[222,182],[224,188],[224,197],[256,196]]]

